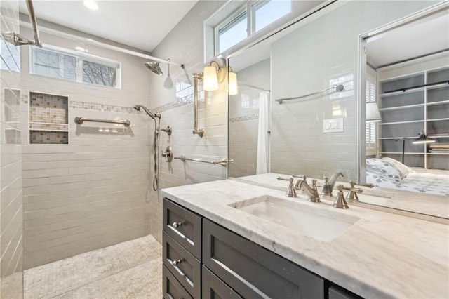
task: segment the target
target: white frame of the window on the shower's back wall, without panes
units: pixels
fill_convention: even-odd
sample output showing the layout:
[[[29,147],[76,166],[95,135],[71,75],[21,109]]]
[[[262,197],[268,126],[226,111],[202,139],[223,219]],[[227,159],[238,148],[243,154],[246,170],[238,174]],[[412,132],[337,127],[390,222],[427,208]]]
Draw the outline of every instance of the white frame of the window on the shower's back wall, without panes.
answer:
[[[75,69],[76,69],[75,80],[65,79],[62,77],[51,77],[51,76],[46,76],[45,74],[36,74],[36,67],[35,67],[35,65],[36,65],[35,51],[36,50],[43,50],[43,51],[47,51],[47,52],[51,52],[51,53],[56,53],[59,55],[66,55],[66,56],[74,57],[75,58]],[[107,86],[107,85],[95,84],[95,83],[84,81],[83,80],[83,62],[84,61],[92,62],[92,63],[99,64],[99,65],[105,65],[106,67],[112,67],[112,68],[116,69],[115,85]],[[63,71],[62,67],[60,67],[60,69]],[[74,82],[74,83],[79,83],[79,84],[89,84],[89,85],[93,85],[93,86],[121,89],[121,62],[115,61],[115,60],[110,60],[107,58],[102,58],[102,57],[91,55],[91,54],[79,53],[77,51],[70,51],[66,48],[60,48],[57,46],[51,46],[51,45],[47,45],[47,44],[44,44],[42,46],[42,48],[39,48],[36,46],[31,47],[31,51],[29,51],[29,74],[32,74],[35,76],[48,77],[48,78],[57,79],[57,80],[63,80],[63,81],[67,81],[67,82]]]

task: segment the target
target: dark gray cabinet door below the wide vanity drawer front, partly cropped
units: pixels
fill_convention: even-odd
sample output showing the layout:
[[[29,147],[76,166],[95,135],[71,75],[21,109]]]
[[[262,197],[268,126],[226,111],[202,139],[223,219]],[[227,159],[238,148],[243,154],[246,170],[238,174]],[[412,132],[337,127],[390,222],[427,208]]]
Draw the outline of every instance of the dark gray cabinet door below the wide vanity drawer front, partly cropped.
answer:
[[[203,266],[203,299],[242,299],[232,288]]]

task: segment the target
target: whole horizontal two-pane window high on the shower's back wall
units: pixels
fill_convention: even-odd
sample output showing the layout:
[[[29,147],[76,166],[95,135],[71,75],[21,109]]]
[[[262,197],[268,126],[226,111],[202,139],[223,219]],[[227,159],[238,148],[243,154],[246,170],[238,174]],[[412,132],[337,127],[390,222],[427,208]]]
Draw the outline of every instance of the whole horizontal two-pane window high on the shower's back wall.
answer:
[[[62,48],[32,48],[32,74],[120,88],[120,63]]]

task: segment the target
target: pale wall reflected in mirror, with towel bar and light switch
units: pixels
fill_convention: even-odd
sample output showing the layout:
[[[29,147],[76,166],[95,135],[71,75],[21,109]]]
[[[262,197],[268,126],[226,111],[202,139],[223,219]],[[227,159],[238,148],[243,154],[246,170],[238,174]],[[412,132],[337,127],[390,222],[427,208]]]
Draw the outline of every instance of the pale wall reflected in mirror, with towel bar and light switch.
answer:
[[[358,36],[431,6],[432,1],[351,1],[272,44],[272,171],[357,180]],[[345,91],[279,105],[343,84]],[[341,112],[341,114],[338,114]],[[323,133],[323,119],[344,118],[344,132]]]

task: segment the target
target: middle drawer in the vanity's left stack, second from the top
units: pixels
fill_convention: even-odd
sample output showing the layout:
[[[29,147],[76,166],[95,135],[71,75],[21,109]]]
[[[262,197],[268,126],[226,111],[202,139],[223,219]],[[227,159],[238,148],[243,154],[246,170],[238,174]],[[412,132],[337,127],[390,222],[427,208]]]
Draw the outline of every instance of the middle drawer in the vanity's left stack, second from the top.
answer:
[[[163,265],[194,298],[201,295],[201,263],[184,247],[163,232]]]

